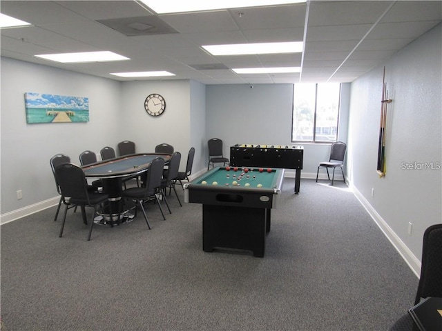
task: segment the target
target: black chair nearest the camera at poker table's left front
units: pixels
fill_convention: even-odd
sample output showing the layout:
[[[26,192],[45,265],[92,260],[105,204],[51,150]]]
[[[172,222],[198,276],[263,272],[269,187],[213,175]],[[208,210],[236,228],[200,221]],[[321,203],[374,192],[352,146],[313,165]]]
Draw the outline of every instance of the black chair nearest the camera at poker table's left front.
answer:
[[[109,195],[88,191],[88,183],[83,170],[73,163],[63,163],[58,165],[57,168],[55,168],[55,177],[60,185],[62,201],[66,205],[59,237],[63,236],[64,223],[66,222],[68,208],[71,205],[79,205],[81,206],[82,212],[85,212],[85,207],[94,208],[89,223],[88,240],[90,240],[97,207],[108,201]],[[87,224],[87,221],[85,223]]]

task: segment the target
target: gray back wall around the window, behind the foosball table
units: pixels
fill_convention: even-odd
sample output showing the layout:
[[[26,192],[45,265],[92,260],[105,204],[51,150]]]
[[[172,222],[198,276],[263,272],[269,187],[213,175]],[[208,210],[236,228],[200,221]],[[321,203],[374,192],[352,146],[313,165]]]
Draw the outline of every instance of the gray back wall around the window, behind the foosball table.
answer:
[[[206,86],[206,136],[222,139],[227,157],[229,146],[236,143],[291,146],[293,92],[292,84]],[[338,139],[346,142],[349,84],[343,84],[341,92]],[[316,177],[318,162],[328,159],[330,145],[296,145],[304,146],[302,177]],[[336,178],[339,177],[337,174]]]

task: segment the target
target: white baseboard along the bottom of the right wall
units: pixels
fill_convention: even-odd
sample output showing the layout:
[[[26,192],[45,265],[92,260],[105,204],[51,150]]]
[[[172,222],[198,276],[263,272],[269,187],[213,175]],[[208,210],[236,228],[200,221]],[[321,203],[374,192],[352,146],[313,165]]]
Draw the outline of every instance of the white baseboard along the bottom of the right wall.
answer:
[[[396,248],[398,253],[404,259],[404,261],[410,266],[410,269],[416,277],[420,277],[421,275],[421,261],[417,259],[412,251],[407,248],[407,245],[403,243],[403,241],[398,237],[398,235],[390,228],[390,226],[383,220],[380,214],[374,210],[372,205],[369,204],[367,199],[359,192],[356,188],[353,187],[353,192],[356,198],[361,202],[361,205],[367,210],[369,215],[372,217],[376,225],[381,229],[381,231],[385,234],[385,237],[392,243],[393,247]]]

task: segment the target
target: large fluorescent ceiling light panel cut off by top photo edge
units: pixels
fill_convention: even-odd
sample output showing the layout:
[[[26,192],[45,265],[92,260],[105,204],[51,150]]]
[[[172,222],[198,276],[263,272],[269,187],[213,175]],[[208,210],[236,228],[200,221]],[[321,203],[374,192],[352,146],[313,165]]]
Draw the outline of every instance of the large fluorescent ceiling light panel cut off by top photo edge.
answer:
[[[230,8],[248,8],[260,6],[287,5],[302,3],[306,0],[141,0],[148,8],[157,14],[173,12],[201,12],[204,10],[220,10]]]

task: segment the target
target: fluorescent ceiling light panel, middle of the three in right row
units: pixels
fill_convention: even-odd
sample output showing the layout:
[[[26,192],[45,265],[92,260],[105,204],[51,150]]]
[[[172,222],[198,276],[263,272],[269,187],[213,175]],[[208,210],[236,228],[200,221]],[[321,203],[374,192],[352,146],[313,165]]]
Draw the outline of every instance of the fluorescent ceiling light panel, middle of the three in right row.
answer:
[[[236,43],[231,45],[202,46],[215,56],[246,54],[282,54],[302,52],[302,41],[285,43]]]

